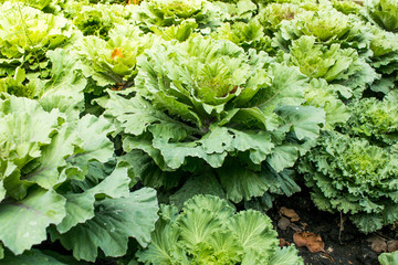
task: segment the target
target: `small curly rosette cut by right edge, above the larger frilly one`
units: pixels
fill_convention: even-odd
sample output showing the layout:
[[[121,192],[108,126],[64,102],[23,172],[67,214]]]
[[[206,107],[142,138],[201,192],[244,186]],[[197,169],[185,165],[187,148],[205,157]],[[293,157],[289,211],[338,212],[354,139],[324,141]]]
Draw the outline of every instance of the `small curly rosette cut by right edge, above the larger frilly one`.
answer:
[[[388,147],[398,142],[398,106],[396,102],[364,98],[352,104],[348,120],[350,135],[367,138],[374,145]],[[344,129],[344,128],[343,128]]]

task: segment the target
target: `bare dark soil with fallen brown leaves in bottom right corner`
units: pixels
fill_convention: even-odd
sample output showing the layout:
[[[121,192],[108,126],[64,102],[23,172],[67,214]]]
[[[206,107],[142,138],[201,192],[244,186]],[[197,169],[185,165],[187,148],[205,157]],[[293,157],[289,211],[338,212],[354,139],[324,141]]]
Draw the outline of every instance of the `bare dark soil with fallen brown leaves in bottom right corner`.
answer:
[[[294,210],[300,216],[298,221],[291,222],[286,229],[281,229],[280,226],[283,227],[283,225],[279,224],[283,218],[280,213],[282,206]],[[311,201],[308,191],[302,191],[289,199],[276,200],[273,208],[266,213],[273,220],[280,239],[283,239],[287,244],[294,243],[293,234],[295,231],[302,230],[321,235],[325,243],[326,254],[322,252],[311,253],[305,246],[297,247],[306,265],[378,265],[377,257],[380,253],[371,250],[369,240],[378,236],[381,241],[387,242],[397,240],[398,234],[398,230],[391,226],[376,233],[363,234],[346,216],[317,210]],[[343,230],[341,231],[342,222]]]

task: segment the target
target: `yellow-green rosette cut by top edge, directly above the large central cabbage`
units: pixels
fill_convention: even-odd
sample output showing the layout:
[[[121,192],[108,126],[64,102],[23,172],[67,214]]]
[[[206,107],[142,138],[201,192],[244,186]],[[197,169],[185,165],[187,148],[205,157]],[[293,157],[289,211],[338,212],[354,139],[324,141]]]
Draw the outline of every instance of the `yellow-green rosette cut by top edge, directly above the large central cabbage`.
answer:
[[[192,19],[203,32],[220,23],[220,9],[206,0],[146,0],[139,4],[136,21],[148,31],[153,26],[178,25]]]

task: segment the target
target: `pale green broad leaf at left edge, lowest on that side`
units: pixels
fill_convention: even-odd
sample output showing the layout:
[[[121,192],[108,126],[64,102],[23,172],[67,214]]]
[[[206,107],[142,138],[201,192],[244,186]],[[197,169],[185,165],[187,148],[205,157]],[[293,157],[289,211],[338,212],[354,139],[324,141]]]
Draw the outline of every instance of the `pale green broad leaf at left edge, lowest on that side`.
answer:
[[[0,204],[0,240],[14,254],[46,239],[45,229],[66,215],[65,199],[54,191],[35,189],[22,201]]]

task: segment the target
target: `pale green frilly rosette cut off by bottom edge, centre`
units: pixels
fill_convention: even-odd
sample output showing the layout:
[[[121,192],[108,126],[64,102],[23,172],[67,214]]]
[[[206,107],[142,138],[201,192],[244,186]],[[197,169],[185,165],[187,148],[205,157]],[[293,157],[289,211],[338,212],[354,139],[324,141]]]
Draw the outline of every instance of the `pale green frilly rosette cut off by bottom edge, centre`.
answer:
[[[303,264],[294,246],[280,248],[271,220],[256,211],[235,213],[226,200],[197,195],[182,212],[161,205],[145,264]]]

